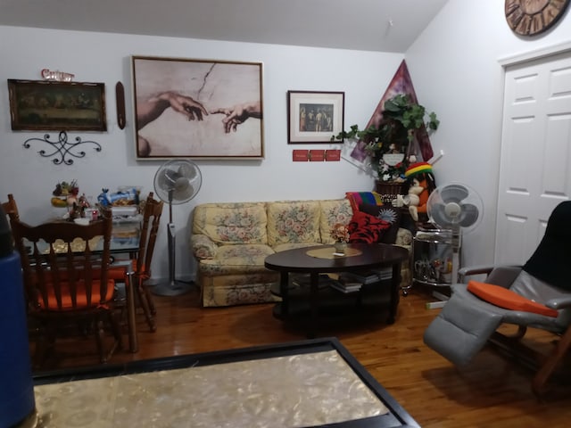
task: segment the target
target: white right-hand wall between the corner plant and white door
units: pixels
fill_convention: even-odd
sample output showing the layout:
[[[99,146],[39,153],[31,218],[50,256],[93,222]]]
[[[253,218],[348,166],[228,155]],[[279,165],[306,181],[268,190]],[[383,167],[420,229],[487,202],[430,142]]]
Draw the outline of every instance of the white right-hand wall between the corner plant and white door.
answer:
[[[518,37],[504,18],[504,2],[451,0],[406,53],[421,103],[441,119],[431,137],[437,184],[475,188],[484,219],[464,236],[464,265],[492,263],[500,166],[503,71],[500,60],[571,41],[569,11],[557,26]]]

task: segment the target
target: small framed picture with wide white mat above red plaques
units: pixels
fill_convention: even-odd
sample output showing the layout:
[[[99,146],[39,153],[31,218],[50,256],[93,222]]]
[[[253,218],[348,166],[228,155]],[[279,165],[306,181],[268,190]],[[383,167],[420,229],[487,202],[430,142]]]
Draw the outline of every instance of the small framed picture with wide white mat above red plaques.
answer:
[[[287,92],[288,144],[331,143],[343,131],[344,92]]]

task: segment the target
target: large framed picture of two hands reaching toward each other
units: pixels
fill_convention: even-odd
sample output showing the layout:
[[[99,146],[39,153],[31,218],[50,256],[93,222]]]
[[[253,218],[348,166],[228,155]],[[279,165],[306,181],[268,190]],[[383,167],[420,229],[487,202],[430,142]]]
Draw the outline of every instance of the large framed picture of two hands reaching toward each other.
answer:
[[[264,156],[262,64],[132,56],[138,160]]]

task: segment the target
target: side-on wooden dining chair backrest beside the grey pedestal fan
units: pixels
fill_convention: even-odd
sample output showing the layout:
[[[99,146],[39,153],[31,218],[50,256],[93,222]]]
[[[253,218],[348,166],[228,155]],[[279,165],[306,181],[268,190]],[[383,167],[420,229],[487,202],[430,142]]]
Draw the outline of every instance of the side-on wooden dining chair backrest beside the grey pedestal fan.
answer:
[[[154,243],[156,243],[159,224],[161,223],[162,206],[164,202],[156,201],[150,192],[143,210],[143,224],[139,236],[139,251],[137,257],[136,275],[143,278],[151,276],[151,261],[153,261]]]

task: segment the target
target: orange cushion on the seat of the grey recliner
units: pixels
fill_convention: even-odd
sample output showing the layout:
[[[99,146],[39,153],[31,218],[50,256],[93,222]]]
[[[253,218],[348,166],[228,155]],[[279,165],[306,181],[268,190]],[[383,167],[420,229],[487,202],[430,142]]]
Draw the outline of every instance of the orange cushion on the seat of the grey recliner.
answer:
[[[468,282],[468,291],[473,292],[480,299],[503,309],[533,312],[534,314],[540,314],[546,317],[557,317],[559,315],[557,310],[550,309],[534,300],[526,299],[516,292],[512,292],[500,285],[479,283],[472,280]]]

